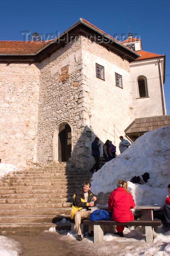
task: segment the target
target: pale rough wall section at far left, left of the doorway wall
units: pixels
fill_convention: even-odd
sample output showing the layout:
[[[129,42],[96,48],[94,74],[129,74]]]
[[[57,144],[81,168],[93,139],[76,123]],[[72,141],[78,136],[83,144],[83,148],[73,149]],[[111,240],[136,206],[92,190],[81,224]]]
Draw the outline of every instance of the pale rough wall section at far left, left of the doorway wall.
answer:
[[[35,64],[0,64],[1,162],[36,162],[39,74]]]

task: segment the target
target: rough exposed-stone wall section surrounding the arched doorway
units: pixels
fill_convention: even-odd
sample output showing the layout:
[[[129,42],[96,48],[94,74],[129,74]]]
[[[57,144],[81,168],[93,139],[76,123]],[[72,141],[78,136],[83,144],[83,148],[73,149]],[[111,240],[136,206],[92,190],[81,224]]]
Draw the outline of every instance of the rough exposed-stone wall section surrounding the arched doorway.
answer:
[[[72,162],[84,167],[84,91],[81,41],[67,44],[41,64],[38,125],[38,159],[40,163],[58,159],[52,147],[55,129],[69,124],[72,132]],[[56,139],[56,142],[58,139]],[[55,155],[55,157],[54,157]],[[86,166],[86,165],[85,165]]]

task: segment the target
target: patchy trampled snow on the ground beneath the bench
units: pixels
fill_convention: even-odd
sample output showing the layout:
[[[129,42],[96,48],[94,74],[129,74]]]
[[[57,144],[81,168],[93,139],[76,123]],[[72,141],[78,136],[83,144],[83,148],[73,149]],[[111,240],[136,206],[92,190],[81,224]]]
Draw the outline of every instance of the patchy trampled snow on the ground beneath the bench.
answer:
[[[50,228],[48,231],[56,232],[55,228]],[[163,225],[162,227],[157,227],[156,231],[154,231],[154,242],[152,244],[146,243],[143,231],[144,227],[136,227],[136,229],[134,226],[125,228],[123,231],[124,238],[107,233],[104,235],[104,241],[99,244],[93,244],[93,238],[88,237],[87,233],[85,233],[85,236],[82,235],[83,240],[81,242],[77,242],[76,234],[71,232],[67,233],[63,230],[58,231],[58,233],[62,233],[61,237],[63,241],[75,241],[75,246],[82,246],[82,253],[83,248],[84,250],[88,248],[88,251],[91,251],[94,256],[170,255],[170,231],[165,232]]]

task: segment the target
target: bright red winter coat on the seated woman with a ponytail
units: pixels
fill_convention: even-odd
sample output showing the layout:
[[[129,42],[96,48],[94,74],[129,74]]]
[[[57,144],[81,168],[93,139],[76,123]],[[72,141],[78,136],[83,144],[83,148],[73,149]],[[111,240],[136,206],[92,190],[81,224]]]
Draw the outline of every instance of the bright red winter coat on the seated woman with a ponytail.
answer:
[[[134,207],[133,196],[122,187],[114,189],[108,199],[108,208],[112,211],[113,221],[133,221],[134,215],[130,209]]]

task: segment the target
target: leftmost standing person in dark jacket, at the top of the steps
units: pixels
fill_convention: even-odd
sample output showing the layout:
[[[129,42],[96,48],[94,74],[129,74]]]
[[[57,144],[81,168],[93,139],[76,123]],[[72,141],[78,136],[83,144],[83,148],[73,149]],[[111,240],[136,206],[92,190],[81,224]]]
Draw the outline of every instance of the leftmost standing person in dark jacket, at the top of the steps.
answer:
[[[100,148],[99,138],[96,137],[95,140],[91,143],[91,154],[95,159],[95,164],[90,169],[91,173],[94,173],[94,170],[96,170],[96,172],[99,170],[99,161],[100,161],[100,149],[99,148]]]

